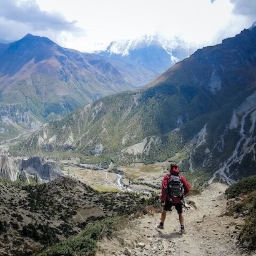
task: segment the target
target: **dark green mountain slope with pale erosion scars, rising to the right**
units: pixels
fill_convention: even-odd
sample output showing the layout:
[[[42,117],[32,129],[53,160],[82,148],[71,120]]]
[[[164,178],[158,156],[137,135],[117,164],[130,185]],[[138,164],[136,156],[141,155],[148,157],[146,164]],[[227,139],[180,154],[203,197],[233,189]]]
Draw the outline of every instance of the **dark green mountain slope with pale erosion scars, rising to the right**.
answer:
[[[116,164],[174,160],[192,179],[255,174],[256,27],[204,47],[143,89],[97,100],[16,145]]]

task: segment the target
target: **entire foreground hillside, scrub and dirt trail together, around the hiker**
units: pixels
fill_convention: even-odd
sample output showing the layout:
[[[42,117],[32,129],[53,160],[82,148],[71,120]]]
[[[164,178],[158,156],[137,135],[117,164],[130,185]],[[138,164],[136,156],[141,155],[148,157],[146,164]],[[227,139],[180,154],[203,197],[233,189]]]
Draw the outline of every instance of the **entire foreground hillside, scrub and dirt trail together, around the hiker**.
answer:
[[[71,177],[34,185],[0,180],[0,254],[254,255],[255,182],[192,190],[181,235],[175,210],[157,229],[159,193],[97,192]]]

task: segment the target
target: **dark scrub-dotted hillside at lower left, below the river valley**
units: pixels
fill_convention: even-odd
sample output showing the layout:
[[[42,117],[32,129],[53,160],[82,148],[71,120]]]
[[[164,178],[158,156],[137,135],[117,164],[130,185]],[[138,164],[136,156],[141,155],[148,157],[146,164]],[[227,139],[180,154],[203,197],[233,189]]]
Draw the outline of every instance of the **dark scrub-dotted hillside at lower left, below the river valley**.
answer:
[[[81,233],[87,224],[140,209],[139,197],[101,194],[78,180],[60,177],[22,186],[0,180],[0,255],[32,255]]]

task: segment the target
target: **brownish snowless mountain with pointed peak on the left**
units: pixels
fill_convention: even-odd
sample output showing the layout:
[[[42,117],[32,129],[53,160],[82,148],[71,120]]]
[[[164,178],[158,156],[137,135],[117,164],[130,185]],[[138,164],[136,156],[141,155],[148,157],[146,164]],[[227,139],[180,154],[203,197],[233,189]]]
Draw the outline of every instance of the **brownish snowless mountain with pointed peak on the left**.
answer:
[[[142,74],[46,37],[27,34],[0,43],[0,137],[15,137],[102,96],[134,89],[138,81],[143,84]]]

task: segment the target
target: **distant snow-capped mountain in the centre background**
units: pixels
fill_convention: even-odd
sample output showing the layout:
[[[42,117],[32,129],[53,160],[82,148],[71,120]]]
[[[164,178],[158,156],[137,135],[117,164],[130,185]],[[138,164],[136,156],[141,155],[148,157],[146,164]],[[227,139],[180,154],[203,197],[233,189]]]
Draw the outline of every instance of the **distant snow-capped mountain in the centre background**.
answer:
[[[158,35],[145,35],[134,40],[111,42],[106,50],[95,53],[147,69],[152,80],[194,51],[194,47],[178,37],[166,40]]]

